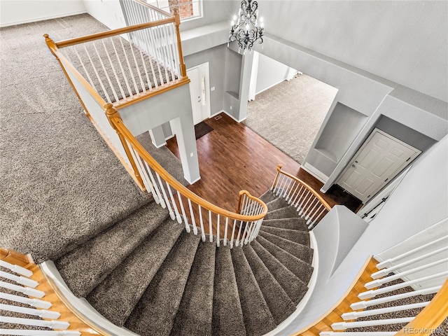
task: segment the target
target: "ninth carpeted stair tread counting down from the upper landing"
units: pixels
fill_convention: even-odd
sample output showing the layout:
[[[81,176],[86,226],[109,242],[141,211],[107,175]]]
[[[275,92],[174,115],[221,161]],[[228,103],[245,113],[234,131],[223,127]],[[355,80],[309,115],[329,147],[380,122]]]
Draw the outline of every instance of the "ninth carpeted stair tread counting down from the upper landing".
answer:
[[[307,262],[300,260],[294,255],[283,250],[271,241],[258,236],[257,241],[266,248],[269,253],[271,253],[276,260],[279,260],[286,268],[288,268],[297,278],[302,280],[306,285],[308,285],[309,279],[311,279],[311,274],[313,273],[313,267]]]

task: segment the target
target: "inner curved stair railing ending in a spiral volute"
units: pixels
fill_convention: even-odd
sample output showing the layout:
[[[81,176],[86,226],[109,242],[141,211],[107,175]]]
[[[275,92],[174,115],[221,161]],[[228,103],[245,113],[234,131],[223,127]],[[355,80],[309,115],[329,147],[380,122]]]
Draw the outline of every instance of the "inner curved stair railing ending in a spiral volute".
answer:
[[[195,235],[200,232],[202,241],[206,241],[208,231],[209,241],[216,241],[219,247],[222,239],[223,245],[230,244],[230,248],[248,244],[257,237],[262,220],[267,214],[264,202],[246,190],[239,193],[236,212],[207,202],[174,179],[151,157],[124,125],[118,110],[112,104],[106,104],[105,108],[109,122],[120,139],[123,139],[123,145],[136,163],[146,190],[153,195],[156,203],[169,211],[173,220],[185,225],[186,232],[193,230]]]

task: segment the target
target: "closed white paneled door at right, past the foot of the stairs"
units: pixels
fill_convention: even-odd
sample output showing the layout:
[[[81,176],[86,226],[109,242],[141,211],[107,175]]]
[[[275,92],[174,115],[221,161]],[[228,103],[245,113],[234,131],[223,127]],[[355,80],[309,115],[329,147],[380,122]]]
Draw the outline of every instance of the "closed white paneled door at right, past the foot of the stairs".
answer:
[[[381,130],[373,130],[337,184],[365,202],[409,165],[421,151]]]

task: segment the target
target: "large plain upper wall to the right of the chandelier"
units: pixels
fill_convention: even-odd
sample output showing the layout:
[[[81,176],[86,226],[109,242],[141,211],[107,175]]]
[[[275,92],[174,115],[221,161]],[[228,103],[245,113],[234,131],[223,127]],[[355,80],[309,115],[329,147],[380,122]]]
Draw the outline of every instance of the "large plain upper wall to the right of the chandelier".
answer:
[[[258,3],[268,34],[448,102],[448,1]]]

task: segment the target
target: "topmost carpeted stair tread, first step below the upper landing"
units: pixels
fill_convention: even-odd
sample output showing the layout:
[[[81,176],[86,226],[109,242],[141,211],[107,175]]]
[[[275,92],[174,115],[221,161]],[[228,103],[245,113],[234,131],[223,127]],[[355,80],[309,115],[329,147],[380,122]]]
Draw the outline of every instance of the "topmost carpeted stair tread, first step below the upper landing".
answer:
[[[151,202],[66,253],[55,265],[73,294],[85,297],[167,217],[165,209]]]

